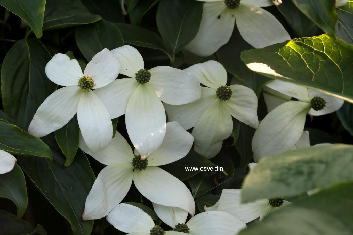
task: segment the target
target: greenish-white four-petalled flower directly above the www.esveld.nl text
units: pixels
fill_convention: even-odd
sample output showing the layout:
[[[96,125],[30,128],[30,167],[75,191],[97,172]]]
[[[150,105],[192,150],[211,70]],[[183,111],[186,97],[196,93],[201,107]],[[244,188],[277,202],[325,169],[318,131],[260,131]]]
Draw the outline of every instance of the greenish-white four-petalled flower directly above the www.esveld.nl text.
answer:
[[[184,71],[192,74],[202,87],[202,97],[186,105],[164,104],[168,118],[178,121],[186,130],[192,127],[194,150],[207,158],[214,157],[223,140],[232,134],[232,116],[257,128],[257,97],[243,85],[227,86],[227,72],[216,61],[195,64]],[[219,91],[219,93],[217,93]]]

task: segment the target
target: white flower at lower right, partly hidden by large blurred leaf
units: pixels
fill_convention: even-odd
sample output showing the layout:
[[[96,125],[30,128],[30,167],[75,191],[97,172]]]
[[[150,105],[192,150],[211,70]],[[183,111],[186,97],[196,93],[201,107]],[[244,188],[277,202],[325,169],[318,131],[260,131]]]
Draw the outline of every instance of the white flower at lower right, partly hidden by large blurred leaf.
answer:
[[[274,210],[290,204],[284,198],[259,199],[250,203],[240,202],[241,189],[223,189],[219,201],[214,206],[204,206],[204,209],[205,211],[225,211],[244,223],[249,223],[258,217],[262,220]]]

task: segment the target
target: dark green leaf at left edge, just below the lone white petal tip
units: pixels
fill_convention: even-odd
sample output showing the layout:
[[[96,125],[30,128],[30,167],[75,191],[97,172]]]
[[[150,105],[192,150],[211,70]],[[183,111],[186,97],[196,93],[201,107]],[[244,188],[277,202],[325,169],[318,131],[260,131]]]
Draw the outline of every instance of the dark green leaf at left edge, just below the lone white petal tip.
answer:
[[[17,206],[17,218],[21,218],[27,208],[27,187],[21,168],[15,164],[14,168],[0,174],[0,197],[12,200]]]

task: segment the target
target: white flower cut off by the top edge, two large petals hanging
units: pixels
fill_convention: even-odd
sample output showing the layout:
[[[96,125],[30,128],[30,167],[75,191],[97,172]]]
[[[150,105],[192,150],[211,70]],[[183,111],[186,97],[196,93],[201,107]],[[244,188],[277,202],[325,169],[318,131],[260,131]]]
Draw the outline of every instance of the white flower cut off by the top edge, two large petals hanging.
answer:
[[[273,5],[271,0],[199,1],[205,1],[200,28],[185,47],[197,55],[209,56],[226,44],[233,33],[235,21],[240,35],[255,48],[291,39],[280,21],[261,8]]]

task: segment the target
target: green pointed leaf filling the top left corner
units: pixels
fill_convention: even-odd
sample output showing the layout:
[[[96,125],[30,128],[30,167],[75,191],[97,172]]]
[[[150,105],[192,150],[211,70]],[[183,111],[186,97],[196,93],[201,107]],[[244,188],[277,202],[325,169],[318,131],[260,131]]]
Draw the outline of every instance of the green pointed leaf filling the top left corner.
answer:
[[[21,17],[31,27],[37,38],[42,37],[45,0],[0,0],[1,6]]]

